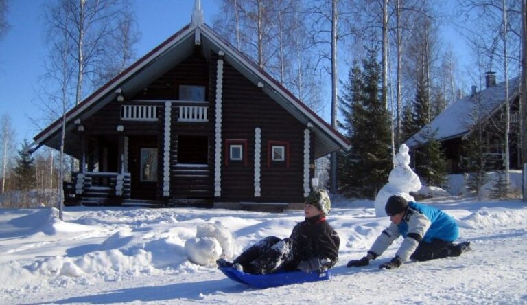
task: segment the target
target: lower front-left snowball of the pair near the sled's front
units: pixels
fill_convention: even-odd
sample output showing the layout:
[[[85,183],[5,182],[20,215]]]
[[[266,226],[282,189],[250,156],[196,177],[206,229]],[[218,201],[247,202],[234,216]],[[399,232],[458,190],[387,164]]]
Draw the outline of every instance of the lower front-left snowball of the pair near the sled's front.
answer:
[[[194,264],[207,266],[213,264],[222,254],[220,242],[213,237],[196,237],[185,242],[187,258]]]

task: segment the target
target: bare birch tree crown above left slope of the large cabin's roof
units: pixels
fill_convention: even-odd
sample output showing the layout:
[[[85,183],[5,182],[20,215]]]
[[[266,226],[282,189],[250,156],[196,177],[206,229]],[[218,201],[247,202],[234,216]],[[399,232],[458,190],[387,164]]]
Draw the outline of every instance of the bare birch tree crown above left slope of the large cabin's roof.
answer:
[[[75,104],[131,63],[131,49],[139,36],[130,7],[128,0],[47,3],[47,30],[65,32],[67,59],[75,64]]]

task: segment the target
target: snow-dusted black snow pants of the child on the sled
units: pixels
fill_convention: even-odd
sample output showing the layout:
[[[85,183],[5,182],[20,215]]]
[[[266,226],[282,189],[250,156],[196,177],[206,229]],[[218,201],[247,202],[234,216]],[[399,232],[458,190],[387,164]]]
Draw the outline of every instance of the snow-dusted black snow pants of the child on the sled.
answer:
[[[289,238],[268,236],[246,249],[234,261],[241,264],[244,272],[270,274],[280,269],[296,269],[293,243]]]

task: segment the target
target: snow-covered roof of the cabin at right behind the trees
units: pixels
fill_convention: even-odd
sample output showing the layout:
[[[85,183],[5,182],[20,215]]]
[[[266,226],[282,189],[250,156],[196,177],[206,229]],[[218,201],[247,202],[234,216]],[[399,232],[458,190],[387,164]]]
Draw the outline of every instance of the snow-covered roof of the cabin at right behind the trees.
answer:
[[[509,100],[513,100],[518,95],[519,77],[508,81]],[[446,141],[462,137],[469,133],[470,128],[475,124],[473,113],[480,110],[481,120],[487,119],[495,113],[505,101],[505,82],[500,82],[475,95],[467,95],[450,104],[447,109],[440,113],[432,123],[421,128],[421,131],[412,135],[406,141],[409,147],[420,146],[427,142],[425,139],[426,131],[431,127],[434,136],[438,141]]]

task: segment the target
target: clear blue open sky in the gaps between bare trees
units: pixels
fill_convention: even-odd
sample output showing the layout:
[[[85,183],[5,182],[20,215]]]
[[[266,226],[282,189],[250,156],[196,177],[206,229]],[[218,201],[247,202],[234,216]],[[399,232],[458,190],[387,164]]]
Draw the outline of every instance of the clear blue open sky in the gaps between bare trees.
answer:
[[[219,0],[201,1],[204,20],[212,25],[211,19],[218,14]],[[8,22],[11,29],[0,39],[0,115],[10,115],[17,143],[24,138],[32,142],[40,131],[30,118],[40,116],[35,105],[36,89],[38,78],[45,73],[43,3],[45,0],[10,0]],[[448,3],[447,6],[452,7],[453,0]],[[139,58],[190,22],[194,0],[134,0],[134,5],[141,31],[141,41],[136,45]],[[448,27],[443,31],[443,39],[453,45],[458,62],[466,63],[467,53],[459,36]],[[347,74],[347,71],[340,71]],[[325,109],[324,113],[329,110]],[[325,117],[324,113],[320,115]]]

